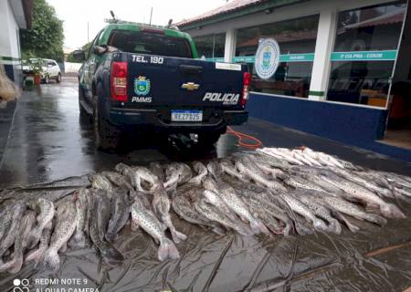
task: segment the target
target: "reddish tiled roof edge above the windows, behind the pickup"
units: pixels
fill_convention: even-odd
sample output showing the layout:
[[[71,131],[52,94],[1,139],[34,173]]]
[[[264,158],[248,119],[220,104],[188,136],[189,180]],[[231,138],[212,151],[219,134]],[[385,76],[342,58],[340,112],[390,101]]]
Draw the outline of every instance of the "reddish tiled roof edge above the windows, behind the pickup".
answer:
[[[232,18],[237,18],[241,16],[247,16],[255,14],[258,12],[272,11],[272,9],[279,8],[280,6],[285,5],[294,5],[300,2],[306,2],[309,0],[268,0],[268,1],[259,1],[252,5],[240,6],[233,10],[228,10],[227,12],[219,13],[212,16],[206,16],[205,18],[200,18],[198,20],[186,20],[182,21],[177,26],[181,30],[189,30],[193,28],[198,28],[201,26],[208,26],[216,24],[218,22],[226,21]]]

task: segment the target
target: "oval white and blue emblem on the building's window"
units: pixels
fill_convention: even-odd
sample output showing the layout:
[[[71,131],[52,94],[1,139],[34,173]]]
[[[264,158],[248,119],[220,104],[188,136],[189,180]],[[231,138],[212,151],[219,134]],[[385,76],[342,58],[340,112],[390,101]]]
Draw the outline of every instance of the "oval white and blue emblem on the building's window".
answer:
[[[261,79],[269,79],[279,68],[279,43],[273,38],[260,41],[254,63],[256,73]]]

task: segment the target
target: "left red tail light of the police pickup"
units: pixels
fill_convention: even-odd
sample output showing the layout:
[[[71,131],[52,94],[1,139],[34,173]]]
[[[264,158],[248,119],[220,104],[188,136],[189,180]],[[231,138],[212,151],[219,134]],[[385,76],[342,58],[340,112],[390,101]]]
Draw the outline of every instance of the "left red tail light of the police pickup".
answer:
[[[111,99],[127,101],[127,62],[111,63]]]

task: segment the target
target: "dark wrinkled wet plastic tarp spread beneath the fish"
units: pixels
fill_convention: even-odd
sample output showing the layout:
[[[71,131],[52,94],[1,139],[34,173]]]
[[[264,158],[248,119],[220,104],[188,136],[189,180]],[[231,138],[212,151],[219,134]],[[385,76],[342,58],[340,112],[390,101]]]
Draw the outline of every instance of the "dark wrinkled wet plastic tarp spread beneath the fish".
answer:
[[[47,191],[47,196],[58,198],[84,184],[84,177],[71,178],[12,192],[37,196]],[[7,196],[1,193],[3,203],[10,201]],[[156,259],[153,239],[142,230],[133,233],[128,224],[116,241],[126,258],[121,266],[105,264],[92,247],[68,249],[57,274],[25,265],[17,275],[0,274],[0,291],[11,291],[16,278],[29,279],[30,291],[39,292],[76,291],[68,287],[110,292],[403,291],[411,287],[411,205],[397,203],[407,219],[389,220],[385,227],[353,219],[361,231],[353,234],[345,228],[342,235],[221,236],[174,216],[176,228],[188,239],[177,245],[180,259],[164,262]],[[74,278],[81,284],[61,282]],[[56,279],[58,284],[35,285],[41,279]]]

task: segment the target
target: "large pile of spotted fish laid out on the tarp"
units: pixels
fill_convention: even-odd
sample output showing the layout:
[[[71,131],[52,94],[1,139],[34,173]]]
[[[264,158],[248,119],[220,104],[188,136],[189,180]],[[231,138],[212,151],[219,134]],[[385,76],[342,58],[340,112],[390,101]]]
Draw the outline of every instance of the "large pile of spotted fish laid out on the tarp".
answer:
[[[378,225],[404,218],[389,202],[394,198],[411,198],[411,178],[365,170],[306,147],[148,167],[119,163],[58,200],[45,194],[6,204],[0,213],[0,272],[17,273],[29,262],[58,270],[58,254],[68,245],[94,245],[107,263],[121,263],[116,238],[129,222],[132,231],[153,237],[159,260],[178,258],[175,245],[187,236],[174,227],[172,211],[218,235],[340,234],[342,225],[359,230],[349,217]]]

